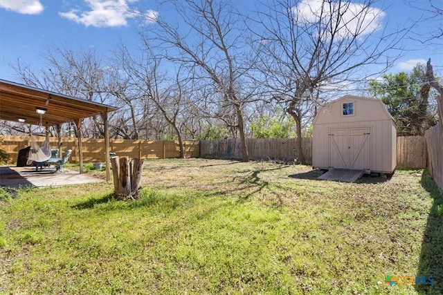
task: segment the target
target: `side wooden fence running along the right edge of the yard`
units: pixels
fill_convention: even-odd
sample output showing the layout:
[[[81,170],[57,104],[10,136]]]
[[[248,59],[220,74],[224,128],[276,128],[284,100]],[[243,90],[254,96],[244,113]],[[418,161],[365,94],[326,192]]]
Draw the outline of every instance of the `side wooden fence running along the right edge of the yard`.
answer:
[[[443,130],[440,124],[426,131],[428,146],[428,171],[443,190]]]

